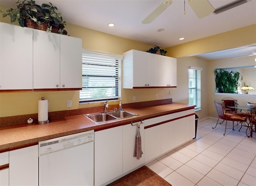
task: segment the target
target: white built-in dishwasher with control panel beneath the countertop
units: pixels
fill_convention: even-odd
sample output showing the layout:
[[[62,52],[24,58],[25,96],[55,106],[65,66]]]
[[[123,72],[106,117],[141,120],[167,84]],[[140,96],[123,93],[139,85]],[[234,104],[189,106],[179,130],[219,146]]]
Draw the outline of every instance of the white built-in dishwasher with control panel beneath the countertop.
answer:
[[[40,141],[39,186],[94,185],[94,131]]]

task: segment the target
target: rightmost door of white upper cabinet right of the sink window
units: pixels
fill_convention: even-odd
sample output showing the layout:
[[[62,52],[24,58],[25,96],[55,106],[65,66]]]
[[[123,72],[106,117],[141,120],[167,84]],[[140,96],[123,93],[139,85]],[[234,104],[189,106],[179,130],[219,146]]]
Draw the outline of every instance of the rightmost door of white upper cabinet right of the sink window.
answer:
[[[158,86],[177,86],[177,59],[158,55]]]

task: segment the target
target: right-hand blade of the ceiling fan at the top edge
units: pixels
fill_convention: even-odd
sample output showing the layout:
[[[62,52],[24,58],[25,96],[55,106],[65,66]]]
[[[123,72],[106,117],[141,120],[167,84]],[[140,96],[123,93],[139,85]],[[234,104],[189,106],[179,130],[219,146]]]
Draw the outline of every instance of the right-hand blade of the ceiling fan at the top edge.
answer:
[[[215,10],[208,0],[188,0],[188,4],[194,10],[198,18],[204,18]]]

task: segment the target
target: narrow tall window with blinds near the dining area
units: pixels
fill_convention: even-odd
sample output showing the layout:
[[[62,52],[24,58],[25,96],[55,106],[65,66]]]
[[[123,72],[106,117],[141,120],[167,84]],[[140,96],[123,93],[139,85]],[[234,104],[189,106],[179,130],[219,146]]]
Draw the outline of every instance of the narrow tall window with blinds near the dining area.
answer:
[[[201,110],[201,68],[188,69],[188,104],[196,105],[195,110]]]

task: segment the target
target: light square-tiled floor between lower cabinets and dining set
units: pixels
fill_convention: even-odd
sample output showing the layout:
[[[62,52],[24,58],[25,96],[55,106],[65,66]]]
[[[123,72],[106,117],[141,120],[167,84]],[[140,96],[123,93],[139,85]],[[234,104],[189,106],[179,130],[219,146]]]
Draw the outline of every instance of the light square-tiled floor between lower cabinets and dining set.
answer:
[[[225,125],[215,125],[200,121],[196,139],[147,166],[172,186],[256,186],[256,133],[239,126],[224,136]]]

